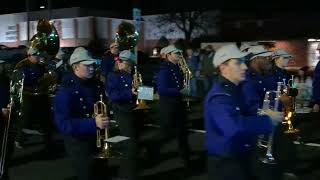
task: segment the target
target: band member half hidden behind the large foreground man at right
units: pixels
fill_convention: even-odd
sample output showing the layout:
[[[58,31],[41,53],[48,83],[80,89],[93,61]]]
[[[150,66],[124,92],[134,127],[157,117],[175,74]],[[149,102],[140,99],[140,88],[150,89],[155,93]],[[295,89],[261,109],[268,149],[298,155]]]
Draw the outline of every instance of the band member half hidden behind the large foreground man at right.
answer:
[[[256,114],[259,108],[262,108],[265,93],[270,90],[277,90],[278,77],[272,75],[272,55],[273,53],[265,49],[262,45],[251,46],[248,49],[251,57],[248,60],[248,71],[246,79],[241,83],[244,92],[244,101],[248,107],[249,114]],[[280,63],[278,63],[280,65]],[[281,81],[282,82],[282,81]],[[279,105],[281,107],[281,104]],[[280,110],[280,109],[279,109]],[[284,152],[280,148],[280,140],[289,143],[288,139],[283,136],[281,126],[274,128],[273,134],[273,156],[277,161],[272,167],[266,167],[259,164],[260,178],[263,179],[281,179],[284,171],[283,162],[280,160],[280,153]],[[265,136],[268,137],[268,136]],[[290,146],[289,146],[290,147]],[[290,150],[294,150],[291,148]],[[291,153],[291,152],[290,152]]]

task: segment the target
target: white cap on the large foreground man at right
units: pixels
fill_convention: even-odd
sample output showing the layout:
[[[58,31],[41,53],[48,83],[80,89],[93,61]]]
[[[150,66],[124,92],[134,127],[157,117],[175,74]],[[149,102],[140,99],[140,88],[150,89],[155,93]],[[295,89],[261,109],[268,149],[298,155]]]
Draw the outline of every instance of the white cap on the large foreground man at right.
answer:
[[[220,64],[228,61],[229,59],[240,59],[248,55],[247,52],[241,52],[235,44],[229,44],[219,48],[214,57],[213,65],[218,67]]]

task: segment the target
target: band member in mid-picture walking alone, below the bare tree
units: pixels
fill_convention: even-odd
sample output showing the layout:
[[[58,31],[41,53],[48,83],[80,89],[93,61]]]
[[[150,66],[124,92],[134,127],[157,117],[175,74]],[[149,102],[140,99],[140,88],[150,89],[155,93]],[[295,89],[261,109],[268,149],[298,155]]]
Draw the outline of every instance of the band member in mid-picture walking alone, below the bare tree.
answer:
[[[189,94],[184,88],[184,74],[178,63],[182,51],[174,45],[163,50],[165,59],[161,62],[157,76],[157,92],[159,94],[160,129],[154,139],[154,153],[159,153],[159,145],[176,137],[179,145],[179,154],[185,167],[190,165],[190,147],[186,128],[186,104],[183,95]],[[158,155],[159,156],[159,155]]]

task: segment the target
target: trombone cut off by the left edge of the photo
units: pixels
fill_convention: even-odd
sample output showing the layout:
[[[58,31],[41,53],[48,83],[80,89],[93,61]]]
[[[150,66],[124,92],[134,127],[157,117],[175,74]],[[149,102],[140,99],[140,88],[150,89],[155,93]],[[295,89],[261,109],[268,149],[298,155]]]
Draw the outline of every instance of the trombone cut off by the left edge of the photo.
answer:
[[[6,154],[7,154],[7,144],[8,144],[8,136],[9,136],[9,128],[11,123],[11,118],[13,114],[13,106],[15,106],[15,109],[19,109],[19,106],[22,104],[22,92],[23,92],[23,83],[24,83],[24,75],[19,74],[18,72],[13,72],[13,78],[10,81],[10,103],[9,103],[9,116],[5,123],[4,131],[3,131],[3,138],[2,138],[2,148],[1,148],[1,156],[0,156],[0,179],[2,179],[2,176],[4,175],[4,166],[5,166],[5,160],[6,160]],[[17,115],[21,115],[20,111],[16,112]]]

